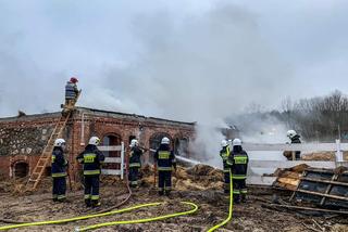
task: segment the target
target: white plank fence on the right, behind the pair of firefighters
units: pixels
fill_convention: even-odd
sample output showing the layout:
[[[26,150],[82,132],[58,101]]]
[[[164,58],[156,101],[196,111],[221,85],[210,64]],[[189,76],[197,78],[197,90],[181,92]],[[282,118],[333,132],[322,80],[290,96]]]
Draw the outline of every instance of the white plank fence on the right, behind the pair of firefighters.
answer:
[[[335,152],[335,162],[311,162],[311,160],[257,160],[251,159],[249,162],[249,173],[251,173],[247,182],[249,184],[258,185],[272,185],[276,180],[276,177],[265,177],[254,175],[252,169],[257,168],[290,168],[297,165],[306,164],[314,168],[336,168],[338,166],[346,166],[348,163],[344,160],[343,151],[348,151],[348,143],[340,143],[336,140],[336,143],[301,143],[301,144],[258,144],[247,143],[244,144],[244,149],[247,152],[283,152],[283,151],[301,151],[301,152]]]

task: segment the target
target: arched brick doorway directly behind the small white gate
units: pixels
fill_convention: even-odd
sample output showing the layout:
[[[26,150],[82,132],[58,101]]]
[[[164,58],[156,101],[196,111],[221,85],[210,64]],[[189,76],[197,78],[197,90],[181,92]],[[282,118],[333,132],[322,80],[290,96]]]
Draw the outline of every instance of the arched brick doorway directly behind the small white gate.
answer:
[[[112,133],[112,134],[107,134],[102,139],[102,145],[103,146],[116,146],[121,145],[122,143],[122,138],[120,134]],[[102,152],[105,157],[121,157],[121,152],[120,151],[104,151]],[[103,168],[105,169],[120,169],[120,164],[104,164]]]

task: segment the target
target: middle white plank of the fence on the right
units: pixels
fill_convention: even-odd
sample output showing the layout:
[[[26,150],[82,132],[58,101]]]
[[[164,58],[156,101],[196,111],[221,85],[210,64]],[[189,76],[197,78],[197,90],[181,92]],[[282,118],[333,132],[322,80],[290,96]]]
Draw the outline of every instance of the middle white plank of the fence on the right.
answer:
[[[297,162],[282,162],[282,160],[254,160],[249,162],[250,168],[291,168],[297,165],[306,164],[313,168],[336,168],[335,162],[307,162],[307,160],[297,160]]]

